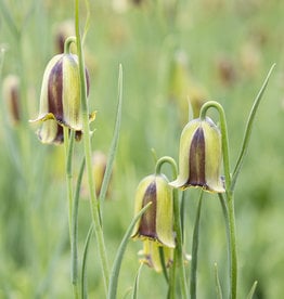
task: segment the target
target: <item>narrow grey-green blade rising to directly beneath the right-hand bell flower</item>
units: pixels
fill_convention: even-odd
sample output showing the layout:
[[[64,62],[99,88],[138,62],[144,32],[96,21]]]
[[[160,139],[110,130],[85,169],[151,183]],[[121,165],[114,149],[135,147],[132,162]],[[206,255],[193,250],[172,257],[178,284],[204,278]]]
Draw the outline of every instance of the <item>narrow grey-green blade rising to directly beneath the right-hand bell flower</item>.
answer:
[[[198,261],[198,244],[199,244],[199,220],[202,211],[203,191],[201,192],[199,203],[196,212],[196,219],[194,223],[193,236],[192,236],[192,263],[191,263],[191,299],[196,299],[196,273]]]

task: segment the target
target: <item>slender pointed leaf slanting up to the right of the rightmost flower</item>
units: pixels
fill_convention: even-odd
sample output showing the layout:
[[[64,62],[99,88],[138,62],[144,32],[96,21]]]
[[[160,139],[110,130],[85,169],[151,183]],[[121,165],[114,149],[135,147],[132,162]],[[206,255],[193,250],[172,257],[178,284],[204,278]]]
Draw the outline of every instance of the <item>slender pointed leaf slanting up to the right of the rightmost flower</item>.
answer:
[[[238,177],[238,173],[241,171],[245,155],[247,153],[248,143],[249,143],[249,139],[250,139],[250,135],[251,135],[251,130],[253,130],[253,125],[254,125],[254,120],[255,120],[255,117],[256,117],[257,108],[259,106],[260,100],[262,99],[264,90],[268,86],[269,78],[270,78],[274,67],[275,67],[275,64],[273,64],[271,66],[270,70],[268,73],[268,76],[267,76],[261,89],[259,90],[259,92],[257,94],[257,98],[254,102],[250,114],[248,116],[247,125],[246,125],[246,129],[245,129],[245,134],[244,134],[244,140],[243,140],[243,145],[242,145],[241,153],[240,153],[240,156],[238,156],[238,159],[236,161],[236,166],[234,168],[233,176],[232,176],[231,191],[234,190],[236,179]]]

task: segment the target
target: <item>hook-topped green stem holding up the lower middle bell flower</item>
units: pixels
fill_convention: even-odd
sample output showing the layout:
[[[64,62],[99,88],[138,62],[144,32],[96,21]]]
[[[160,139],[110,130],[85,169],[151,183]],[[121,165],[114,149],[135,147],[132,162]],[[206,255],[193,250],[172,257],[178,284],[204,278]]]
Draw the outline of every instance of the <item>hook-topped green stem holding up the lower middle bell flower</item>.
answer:
[[[173,180],[177,179],[178,177],[178,167],[171,157],[162,157],[158,159],[156,164],[156,174],[160,173],[162,166],[168,162],[171,166],[172,170],[172,177]],[[176,232],[176,239],[177,239],[177,248],[175,250],[175,260],[173,260],[173,269],[170,275],[170,294],[172,295],[172,291],[175,291],[175,286],[176,286],[176,268],[177,265],[180,266],[180,283],[181,283],[181,295],[182,298],[189,298],[188,296],[188,287],[186,287],[186,275],[185,275],[185,269],[184,269],[184,262],[183,262],[183,252],[182,252],[182,230],[181,230],[181,219],[180,219],[180,203],[179,203],[179,192],[177,188],[173,190],[173,227]],[[172,282],[173,280],[173,282]],[[173,297],[175,298],[175,292]]]

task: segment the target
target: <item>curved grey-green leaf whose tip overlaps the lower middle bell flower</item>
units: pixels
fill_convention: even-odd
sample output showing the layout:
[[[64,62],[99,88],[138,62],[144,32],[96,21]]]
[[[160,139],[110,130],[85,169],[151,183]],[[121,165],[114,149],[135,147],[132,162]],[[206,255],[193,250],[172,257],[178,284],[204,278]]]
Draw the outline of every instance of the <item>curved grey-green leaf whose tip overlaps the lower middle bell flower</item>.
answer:
[[[133,220],[131,221],[130,225],[128,226],[128,229],[127,229],[127,231],[125,233],[125,236],[124,236],[124,238],[122,238],[122,240],[121,240],[121,243],[119,245],[119,248],[118,248],[116,257],[115,257],[114,265],[113,265],[113,269],[112,269],[112,273],[111,273],[111,281],[109,281],[108,295],[107,295],[108,299],[115,299],[116,298],[119,271],[120,271],[124,253],[125,253],[125,250],[126,250],[126,246],[127,246],[129,237],[130,237],[130,235],[132,233],[132,230],[133,230],[137,221],[150,208],[151,205],[152,205],[152,203],[149,203],[133,218]]]

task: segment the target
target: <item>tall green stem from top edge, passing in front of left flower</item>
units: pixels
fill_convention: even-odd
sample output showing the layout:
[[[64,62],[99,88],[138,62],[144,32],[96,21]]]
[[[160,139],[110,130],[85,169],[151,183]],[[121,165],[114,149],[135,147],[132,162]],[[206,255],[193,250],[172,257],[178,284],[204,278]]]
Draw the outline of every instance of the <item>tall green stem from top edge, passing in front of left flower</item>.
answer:
[[[99,256],[101,260],[101,266],[103,272],[105,292],[107,294],[107,286],[109,283],[108,261],[106,256],[106,248],[104,243],[103,230],[100,221],[100,205],[95,196],[95,186],[93,180],[92,162],[91,162],[91,141],[90,141],[90,128],[89,128],[89,107],[87,103],[87,87],[86,87],[86,72],[83,53],[81,47],[81,37],[79,32],[79,0],[75,0],[75,30],[77,41],[77,52],[80,72],[80,94],[81,94],[81,109],[82,109],[82,127],[83,127],[83,147],[86,156],[86,166],[90,193],[90,209],[93,220],[93,229],[99,247]]]

